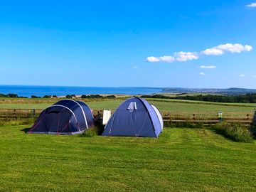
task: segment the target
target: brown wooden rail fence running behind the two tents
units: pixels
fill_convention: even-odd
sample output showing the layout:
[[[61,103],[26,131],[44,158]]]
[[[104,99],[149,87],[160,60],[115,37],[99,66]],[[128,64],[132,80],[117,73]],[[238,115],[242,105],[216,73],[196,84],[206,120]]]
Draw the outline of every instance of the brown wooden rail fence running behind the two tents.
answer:
[[[28,109],[0,109],[0,119],[8,118],[29,118],[38,117],[43,110]],[[102,117],[102,110],[92,110],[95,117]],[[221,121],[236,122],[245,126],[250,126],[253,119],[252,112],[225,112],[221,116],[219,113],[188,113],[188,112],[161,112],[164,122],[169,123],[202,123],[206,126],[213,125]]]

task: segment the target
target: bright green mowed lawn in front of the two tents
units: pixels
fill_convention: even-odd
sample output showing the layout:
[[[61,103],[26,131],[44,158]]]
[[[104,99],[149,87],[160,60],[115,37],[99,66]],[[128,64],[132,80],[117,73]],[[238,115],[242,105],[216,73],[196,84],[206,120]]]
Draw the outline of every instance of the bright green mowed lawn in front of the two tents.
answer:
[[[208,129],[159,139],[0,128],[0,191],[256,191],[256,144]]]

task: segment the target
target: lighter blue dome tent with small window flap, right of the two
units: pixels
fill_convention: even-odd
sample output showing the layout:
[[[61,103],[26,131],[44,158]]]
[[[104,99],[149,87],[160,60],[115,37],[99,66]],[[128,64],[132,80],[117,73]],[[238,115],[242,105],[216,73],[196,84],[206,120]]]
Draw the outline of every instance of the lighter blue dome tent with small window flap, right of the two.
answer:
[[[107,122],[103,136],[159,137],[163,119],[154,105],[139,97],[124,101]]]

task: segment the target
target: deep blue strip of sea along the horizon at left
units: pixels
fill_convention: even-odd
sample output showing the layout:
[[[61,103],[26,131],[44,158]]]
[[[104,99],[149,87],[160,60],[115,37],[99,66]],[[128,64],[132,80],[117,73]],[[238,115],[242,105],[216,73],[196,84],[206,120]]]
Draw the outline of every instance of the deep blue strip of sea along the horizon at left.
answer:
[[[65,87],[65,86],[35,86],[35,85],[0,85],[0,93],[14,93],[21,97],[36,95],[151,95],[162,92],[161,87]]]

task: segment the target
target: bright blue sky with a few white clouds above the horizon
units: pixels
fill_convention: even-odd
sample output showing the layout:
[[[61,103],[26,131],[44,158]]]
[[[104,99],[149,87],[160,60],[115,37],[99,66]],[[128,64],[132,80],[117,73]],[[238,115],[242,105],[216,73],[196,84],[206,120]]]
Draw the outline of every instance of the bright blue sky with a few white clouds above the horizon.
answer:
[[[0,85],[256,88],[254,1],[1,1]]]

